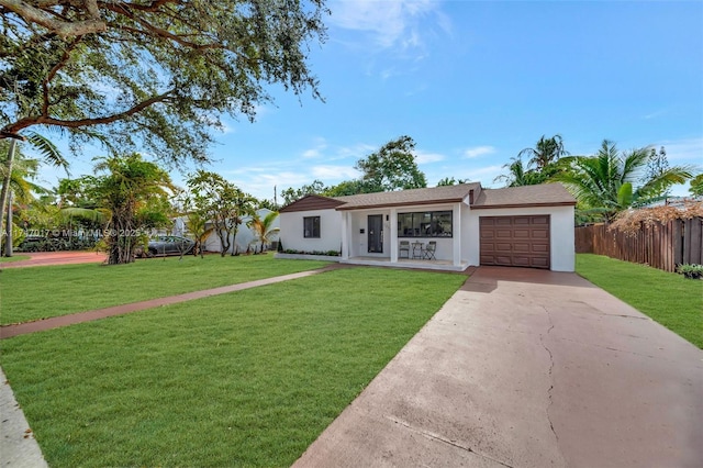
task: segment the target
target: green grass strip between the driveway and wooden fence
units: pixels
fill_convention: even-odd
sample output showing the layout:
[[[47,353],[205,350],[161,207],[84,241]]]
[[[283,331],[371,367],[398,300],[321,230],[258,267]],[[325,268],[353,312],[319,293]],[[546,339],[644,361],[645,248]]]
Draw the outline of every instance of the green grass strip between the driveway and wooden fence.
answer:
[[[703,348],[703,281],[600,255],[577,255],[583,278]]]

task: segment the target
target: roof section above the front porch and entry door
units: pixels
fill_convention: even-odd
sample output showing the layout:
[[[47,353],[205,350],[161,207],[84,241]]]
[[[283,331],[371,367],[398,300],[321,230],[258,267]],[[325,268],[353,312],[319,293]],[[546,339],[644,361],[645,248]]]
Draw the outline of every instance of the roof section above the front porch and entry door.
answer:
[[[478,182],[458,186],[410,189],[394,192],[361,193],[348,197],[335,197],[343,202],[337,210],[360,210],[380,207],[403,207],[411,204],[454,203],[464,201],[471,190],[480,190]]]

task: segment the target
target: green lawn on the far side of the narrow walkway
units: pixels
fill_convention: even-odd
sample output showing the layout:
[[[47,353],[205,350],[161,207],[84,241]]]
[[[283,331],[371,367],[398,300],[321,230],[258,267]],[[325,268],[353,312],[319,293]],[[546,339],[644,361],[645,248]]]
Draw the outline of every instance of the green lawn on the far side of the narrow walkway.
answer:
[[[62,265],[0,271],[0,324],[235,285],[330,265],[272,255],[140,259],[129,265]]]

